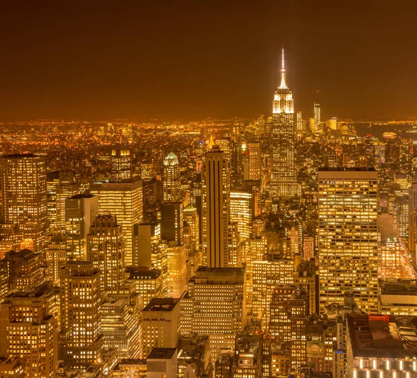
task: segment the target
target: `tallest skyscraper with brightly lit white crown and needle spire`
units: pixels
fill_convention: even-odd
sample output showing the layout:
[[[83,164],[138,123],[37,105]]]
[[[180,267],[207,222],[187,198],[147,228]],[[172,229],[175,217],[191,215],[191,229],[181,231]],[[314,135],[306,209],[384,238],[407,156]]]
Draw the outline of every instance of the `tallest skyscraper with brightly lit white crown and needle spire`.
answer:
[[[294,165],[294,101],[286,83],[284,49],[282,49],[281,83],[272,102],[272,171],[270,194],[275,197],[297,195]]]

